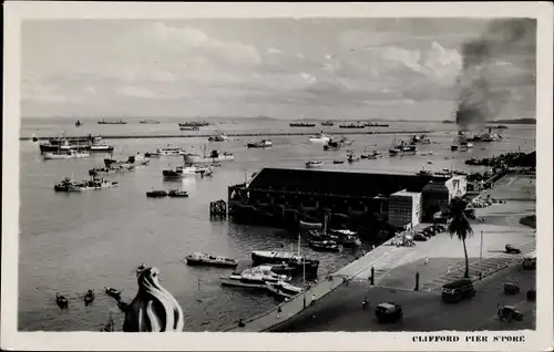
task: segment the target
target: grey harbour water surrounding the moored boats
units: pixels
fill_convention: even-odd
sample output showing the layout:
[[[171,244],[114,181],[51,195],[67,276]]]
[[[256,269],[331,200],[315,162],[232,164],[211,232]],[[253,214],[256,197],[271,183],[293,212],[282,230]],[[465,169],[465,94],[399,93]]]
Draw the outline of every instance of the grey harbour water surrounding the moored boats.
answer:
[[[274,121],[243,127],[230,124],[230,127],[218,125],[214,131],[273,131],[277,123],[288,124]],[[43,125],[39,127],[42,131],[64,128],[59,125],[59,121],[49,124],[41,120],[41,124]],[[432,130],[437,126],[424,123],[404,128]],[[161,128],[160,125],[152,126]],[[25,125],[23,122],[22,135],[29,135],[39,127]],[[89,133],[85,127],[86,125],[81,127],[81,135]],[[150,125],[141,126],[148,127]],[[176,124],[173,130],[175,127]],[[297,250],[295,236],[283,230],[209,219],[209,203],[227,200],[229,185],[243,183],[247,175],[261,167],[304,167],[308,159],[321,159],[326,162],[325,168],[336,169],[416,173],[422,167],[439,170],[454,166],[478,170],[479,167],[463,165],[463,161],[468,157],[517,151],[517,147],[522,151],[532,151],[535,147],[534,126],[511,126],[510,130],[503,131],[506,136],[503,142],[484,144],[483,151],[481,145],[475,145],[473,151],[468,153],[451,153],[450,143],[454,137],[455,127],[440,127],[450,128],[452,133],[431,133],[429,136],[437,144],[421,146],[422,151],[433,151],[432,156],[383,157],[376,161],[362,159],[352,165],[332,165],[334,159],[346,159],[346,149],[324,152],[321,145],[309,144],[307,137],[273,137],[273,148],[247,149],[245,144],[248,138],[240,138],[211,145],[222,152],[235,153],[235,162],[217,167],[213,177],[164,182],[162,169],[170,165],[181,165],[183,159],[161,157],[153,158],[150,165],[137,167],[132,173],[113,175],[113,180],[120,183],[115,188],[82,194],[54,193],[53,185],[64,177],[88,178],[88,170],[102,166],[105,155],[70,161],[43,161],[37,144],[21,142],[18,328],[23,331],[98,331],[106,323],[110,311],[121,327],[123,313],[119,311],[115,301],[103,293],[103,288],[111,286],[121,289],[124,300],[132,300],[137,288],[134,270],[142,262],[161,269],[162,284],[175,296],[183,308],[186,331],[216,331],[240,318],[247,319],[271,308],[276,302],[266,293],[222,288],[219,277],[229,270],[187,267],[183,259],[188,253],[202,250],[236,257],[240,260],[238,269],[242,269],[250,266],[253,250]],[[104,132],[91,133],[110,134],[110,126],[103,128]],[[316,131],[314,128],[314,132]],[[369,151],[386,152],[391,138],[390,135],[352,136],[355,143],[351,149],[357,154],[366,147]],[[167,144],[199,152],[201,146],[206,143],[205,138],[109,142],[115,145],[116,158],[126,158],[137,152],[155,151]],[[456,157],[452,158],[452,155]],[[428,164],[429,161],[433,164]],[[145,196],[147,190],[179,187],[188,190],[188,198],[152,199]],[[361,249],[367,250],[369,247],[369,244],[363,244]],[[320,275],[339,269],[358,255],[355,250],[345,250],[341,255],[320,253],[304,245],[302,251],[321,260]],[[88,289],[96,291],[96,300],[84,307],[81,294]],[[70,299],[69,310],[61,311],[58,308],[57,292]]]

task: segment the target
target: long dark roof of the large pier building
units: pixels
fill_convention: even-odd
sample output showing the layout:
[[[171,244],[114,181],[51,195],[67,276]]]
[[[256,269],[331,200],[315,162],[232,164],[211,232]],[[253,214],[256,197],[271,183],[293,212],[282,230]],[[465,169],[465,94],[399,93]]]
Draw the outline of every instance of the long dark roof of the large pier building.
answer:
[[[414,174],[373,174],[341,170],[264,168],[250,182],[250,188],[271,188],[319,194],[375,197],[406,189],[421,191],[430,182],[444,178]]]

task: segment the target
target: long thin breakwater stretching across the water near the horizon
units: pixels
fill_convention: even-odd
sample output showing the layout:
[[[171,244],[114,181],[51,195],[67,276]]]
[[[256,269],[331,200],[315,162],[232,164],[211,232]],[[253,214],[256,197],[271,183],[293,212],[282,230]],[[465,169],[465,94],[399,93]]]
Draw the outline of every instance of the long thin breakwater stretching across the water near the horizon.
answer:
[[[328,134],[339,135],[371,135],[371,134],[422,134],[431,133],[432,131],[339,131],[327,132]],[[225,133],[228,137],[287,137],[287,136],[310,136],[311,132],[259,132],[259,133]],[[146,138],[208,138],[214,136],[214,133],[206,134],[127,134],[127,135],[102,135],[103,139],[146,139]],[[86,138],[86,136],[65,136],[68,138]],[[39,141],[51,139],[55,137],[38,137]],[[31,141],[32,137],[19,137],[19,141]]]

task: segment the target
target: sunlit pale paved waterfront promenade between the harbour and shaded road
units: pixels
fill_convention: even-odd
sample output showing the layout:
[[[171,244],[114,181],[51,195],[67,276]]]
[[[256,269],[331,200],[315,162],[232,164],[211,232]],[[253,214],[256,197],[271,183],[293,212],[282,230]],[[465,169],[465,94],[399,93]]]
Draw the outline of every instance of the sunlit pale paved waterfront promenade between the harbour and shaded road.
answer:
[[[495,198],[506,199],[507,203],[476,209],[478,216],[483,218],[483,221],[472,224],[474,235],[466,239],[470,276],[473,280],[479,280],[480,271],[482,271],[484,279],[509,268],[521,260],[522,256],[534,251],[536,247],[535,231],[514,221],[515,217],[521,218],[534,209],[534,180],[524,176],[507,175],[486,194],[491,194]],[[500,214],[504,215],[504,221],[499,221]],[[418,226],[417,229],[423,226],[424,224]],[[505,255],[503,251],[506,244],[520,247],[522,255]],[[424,262],[425,257],[429,259],[428,263]],[[369,281],[371,268],[375,269],[373,286]],[[389,240],[335,272],[334,280],[321,278],[320,282],[306,292],[306,303],[309,304],[311,294],[316,296],[316,306],[318,306],[319,300],[321,299],[321,303],[324,303],[325,297],[328,294],[336,296],[338,293],[334,292],[349,290],[345,284],[345,279],[349,279],[352,282],[350,284],[362,284],[368,290],[381,288],[392,291],[411,291],[411,294],[432,293],[440,290],[442,284],[461,278],[463,270],[462,244],[458,238],[451,238],[447,232],[438,234],[429,241],[418,242],[416,247],[397,247],[392,246],[391,240]],[[420,276],[419,293],[413,292],[416,273]],[[279,318],[277,308],[275,308],[266,313],[244,320],[246,323],[244,328],[232,327],[226,331],[276,331],[297,314],[309,314],[307,311],[312,310],[311,307],[308,307],[307,310],[304,309],[304,294],[299,294],[280,306],[281,314]]]

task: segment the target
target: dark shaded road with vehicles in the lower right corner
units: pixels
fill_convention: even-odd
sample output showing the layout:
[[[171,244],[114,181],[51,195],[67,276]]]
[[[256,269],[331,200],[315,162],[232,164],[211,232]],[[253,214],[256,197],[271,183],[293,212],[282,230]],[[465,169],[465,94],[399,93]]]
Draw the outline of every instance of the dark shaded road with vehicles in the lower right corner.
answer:
[[[322,298],[315,307],[284,322],[271,332],[317,332],[317,331],[438,331],[438,330],[521,330],[535,329],[535,303],[525,300],[525,292],[535,288],[535,271],[522,270],[513,266],[482,282],[476,282],[476,296],[455,304],[443,303],[440,292],[414,292],[369,287],[351,283],[340,287]],[[517,282],[522,291],[515,296],[504,296],[502,284],[506,280]],[[367,297],[370,309],[362,310],[361,302]],[[402,306],[404,317],[401,322],[379,324],[375,318],[375,306],[393,301]],[[495,317],[496,304],[515,304],[524,314],[522,322],[501,322]]]

